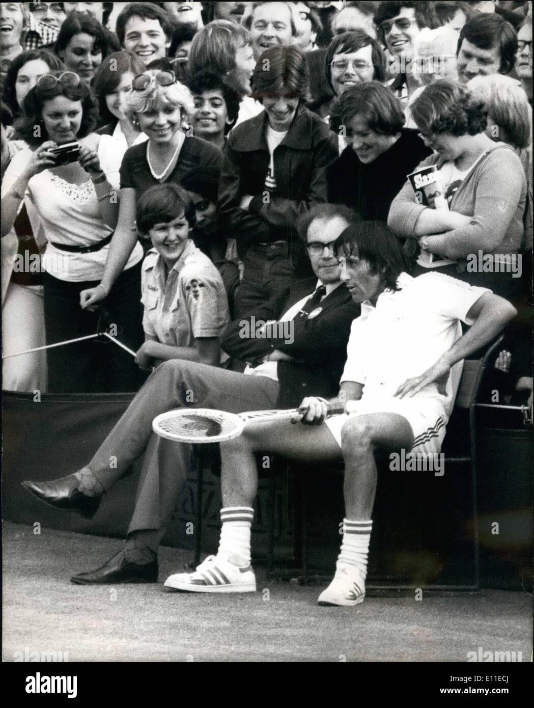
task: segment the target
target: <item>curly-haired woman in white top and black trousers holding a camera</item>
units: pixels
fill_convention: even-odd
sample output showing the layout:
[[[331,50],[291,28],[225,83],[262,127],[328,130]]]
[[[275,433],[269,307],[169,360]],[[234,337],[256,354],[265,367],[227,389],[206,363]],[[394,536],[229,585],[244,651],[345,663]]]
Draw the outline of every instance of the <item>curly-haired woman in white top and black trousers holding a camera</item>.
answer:
[[[1,234],[9,232],[24,200],[34,232],[42,229],[47,239],[42,268],[49,344],[94,334],[98,327],[98,314],[79,308],[80,292],[103,275],[118,207],[98,159],[95,118],[94,99],[77,74],[41,76],[17,125],[29,147],[13,157],[2,184]],[[55,152],[67,144],[70,150]],[[141,246],[132,250],[106,306],[121,341],[135,349],[143,341],[143,252]],[[134,361],[113,344],[52,348],[47,362],[50,392],[131,391],[140,383]]]

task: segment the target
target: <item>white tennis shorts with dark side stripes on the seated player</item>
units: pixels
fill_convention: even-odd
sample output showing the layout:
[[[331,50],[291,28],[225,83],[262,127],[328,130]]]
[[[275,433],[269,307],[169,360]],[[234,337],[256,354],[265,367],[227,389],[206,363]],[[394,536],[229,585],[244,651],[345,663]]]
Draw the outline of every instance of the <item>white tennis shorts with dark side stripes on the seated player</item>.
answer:
[[[406,418],[412,428],[414,434],[412,452],[419,452],[422,455],[434,455],[440,452],[448,418],[443,411],[443,406],[436,399],[425,396],[403,399],[397,396],[384,396],[380,399],[369,396],[366,399],[362,396],[359,401],[353,401],[353,405],[357,406],[353,413],[342,413],[325,421],[339,447],[341,447],[341,429],[349,418],[366,416],[369,413],[397,413]]]

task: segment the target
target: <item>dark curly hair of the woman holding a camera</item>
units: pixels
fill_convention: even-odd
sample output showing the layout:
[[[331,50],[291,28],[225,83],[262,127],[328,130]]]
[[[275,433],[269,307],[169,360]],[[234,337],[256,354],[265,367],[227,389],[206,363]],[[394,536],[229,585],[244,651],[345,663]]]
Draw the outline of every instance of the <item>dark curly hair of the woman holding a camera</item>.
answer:
[[[63,72],[50,72],[52,76],[61,76]],[[23,114],[15,123],[18,135],[25,140],[30,147],[39,147],[48,139],[47,130],[42,121],[42,109],[47,101],[52,101],[57,96],[65,96],[70,101],[81,101],[81,125],[77,137],[86,137],[93,132],[98,117],[98,108],[91,91],[81,81],[78,86],[64,86],[57,82],[53,89],[44,89],[36,84],[24,99]],[[40,126],[36,131],[35,127]],[[36,136],[35,132],[40,135]]]

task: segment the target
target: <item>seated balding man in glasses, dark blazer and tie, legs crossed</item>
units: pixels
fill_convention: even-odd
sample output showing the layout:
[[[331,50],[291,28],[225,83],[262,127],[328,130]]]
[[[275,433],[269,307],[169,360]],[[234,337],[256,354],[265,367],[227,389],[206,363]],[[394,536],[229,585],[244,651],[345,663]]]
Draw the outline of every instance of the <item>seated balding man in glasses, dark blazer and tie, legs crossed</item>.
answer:
[[[231,324],[223,346],[248,360],[242,374],[197,362],[171,360],[149,377],[87,467],[50,482],[25,482],[26,489],[56,508],[91,518],[107,489],[127,474],[140,455],[144,464],[127,542],[119,554],[95,571],[79,573],[77,584],[156,582],[158,546],[175,510],[191,445],[170,442],[152,432],[159,413],[190,406],[242,413],[296,406],[308,392],[337,393],[352,320],[359,305],[339,280],[333,244],[354,219],[347,207],[320,205],[299,222],[315,273],[287,297],[257,309],[254,319]],[[318,282],[319,281],[319,282]],[[279,321],[265,327],[260,320]],[[269,336],[272,333],[272,336]],[[285,336],[277,336],[280,333]],[[145,452],[146,451],[146,452]]]

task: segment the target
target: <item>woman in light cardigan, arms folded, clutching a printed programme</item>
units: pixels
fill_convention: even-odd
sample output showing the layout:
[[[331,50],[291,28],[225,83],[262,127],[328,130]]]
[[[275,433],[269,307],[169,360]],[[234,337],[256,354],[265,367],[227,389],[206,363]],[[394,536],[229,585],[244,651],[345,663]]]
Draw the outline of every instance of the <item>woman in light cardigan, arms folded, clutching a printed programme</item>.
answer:
[[[419,167],[439,169],[448,210],[419,203],[407,181],[393,200],[388,226],[399,236],[418,239],[418,274],[439,268],[513,299],[521,290],[511,265],[517,265],[523,239],[527,193],[520,159],[509,145],[493,142],[484,132],[484,104],[455,81],[440,79],[427,86],[412,105],[412,115],[434,150]]]

